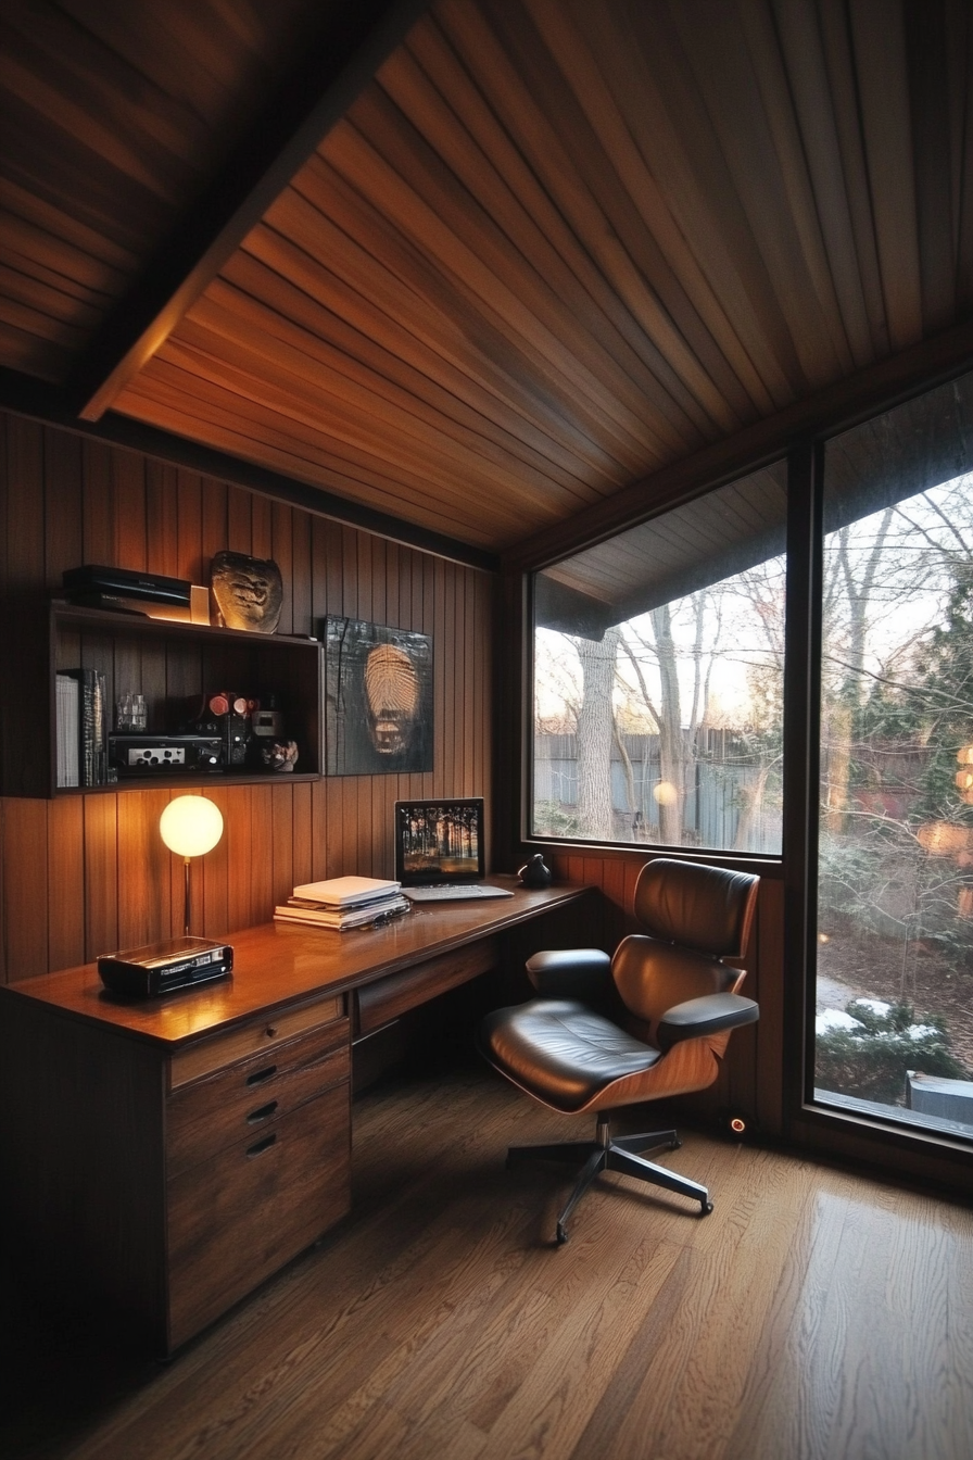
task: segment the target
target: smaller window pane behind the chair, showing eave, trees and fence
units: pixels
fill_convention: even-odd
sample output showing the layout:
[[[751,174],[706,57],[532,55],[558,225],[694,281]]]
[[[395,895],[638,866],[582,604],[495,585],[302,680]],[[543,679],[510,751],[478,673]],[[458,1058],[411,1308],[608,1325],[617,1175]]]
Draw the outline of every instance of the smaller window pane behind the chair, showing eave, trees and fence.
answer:
[[[780,854],[785,480],[535,575],[534,835]]]

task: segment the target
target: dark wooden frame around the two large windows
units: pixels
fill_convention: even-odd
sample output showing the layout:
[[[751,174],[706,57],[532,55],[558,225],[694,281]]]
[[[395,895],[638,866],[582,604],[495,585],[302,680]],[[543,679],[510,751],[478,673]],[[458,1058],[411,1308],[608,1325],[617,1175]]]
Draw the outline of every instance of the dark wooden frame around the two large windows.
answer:
[[[973,1164],[966,1143],[931,1130],[897,1127],[883,1123],[881,1117],[817,1104],[813,1098],[813,1069],[824,448],[842,432],[967,374],[972,361],[973,327],[958,327],[939,340],[922,342],[769,422],[706,448],[689,461],[662,469],[646,482],[624,489],[617,499],[581,512],[573,523],[562,524],[508,553],[502,562],[500,634],[503,637],[505,625],[511,628],[508,642],[515,645],[515,654],[509,672],[499,672],[497,677],[496,739],[500,762],[513,771],[506,790],[502,788],[503,775],[496,778],[500,788],[497,840],[511,844],[515,857],[546,851],[563,858],[572,880],[586,880],[585,853],[602,861],[624,863],[645,861],[652,856],[691,857],[763,870],[766,876],[779,879],[783,894],[782,1026],[776,1051],[780,1136],[829,1158],[843,1155],[923,1178],[932,1171],[935,1178],[950,1186],[958,1183],[964,1190],[973,1186]],[[531,835],[534,574],[766,467],[782,456],[788,461],[788,569],[780,856]]]

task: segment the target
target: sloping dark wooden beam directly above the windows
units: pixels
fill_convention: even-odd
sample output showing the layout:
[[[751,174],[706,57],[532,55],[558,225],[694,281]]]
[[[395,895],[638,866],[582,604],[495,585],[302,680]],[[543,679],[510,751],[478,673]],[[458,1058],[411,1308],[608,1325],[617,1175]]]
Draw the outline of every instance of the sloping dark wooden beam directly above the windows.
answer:
[[[779,461],[801,437],[848,429],[970,366],[973,321],[967,320],[522,539],[503,553],[502,566],[511,572],[551,568],[573,553],[691,501],[703,491]]]

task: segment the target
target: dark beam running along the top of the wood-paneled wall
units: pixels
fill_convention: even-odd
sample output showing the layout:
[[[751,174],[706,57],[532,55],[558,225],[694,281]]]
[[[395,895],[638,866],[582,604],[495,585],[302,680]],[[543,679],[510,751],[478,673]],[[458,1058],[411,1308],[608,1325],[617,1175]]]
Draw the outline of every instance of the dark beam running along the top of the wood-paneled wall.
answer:
[[[375,537],[387,537],[404,548],[414,548],[417,552],[427,552],[436,558],[445,558],[448,562],[458,562],[465,568],[499,572],[499,556],[474,548],[471,543],[446,537],[443,533],[433,533],[414,523],[403,521],[400,517],[392,517],[391,512],[375,511],[371,507],[337,496],[334,492],[298,482],[280,472],[270,472],[265,467],[242,461],[226,451],[216,451],[212,447],[188,441],[185,437],[160,431],[158,426],[146,426],[130,416],[118,415],[118,412],[109,410],[96,422],[79,420],[70,409],[66,393],[57,385],[47,385],[3,366],[0,366],[0,410],[28,416],[42,425],[60,426],[108,445],[140,451],[143,456],[184,467],[187,472],[198,472],[220,482],[245,486],[251,492],[260,492],[261,496],[287,502],[287,505],[299,507],[317,517],[327,517],[346,527],[357,527]]]

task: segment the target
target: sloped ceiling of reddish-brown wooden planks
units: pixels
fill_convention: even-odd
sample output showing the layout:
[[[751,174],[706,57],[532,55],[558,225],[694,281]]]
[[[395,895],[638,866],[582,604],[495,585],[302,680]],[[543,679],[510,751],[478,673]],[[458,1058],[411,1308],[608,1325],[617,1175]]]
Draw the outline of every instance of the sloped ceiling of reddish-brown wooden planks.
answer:
[[[4,7],[0,365],[70,387],[340,9]],[[88,413],[505,550],[969,315],[972,55],[967,0],[436,0]]]

